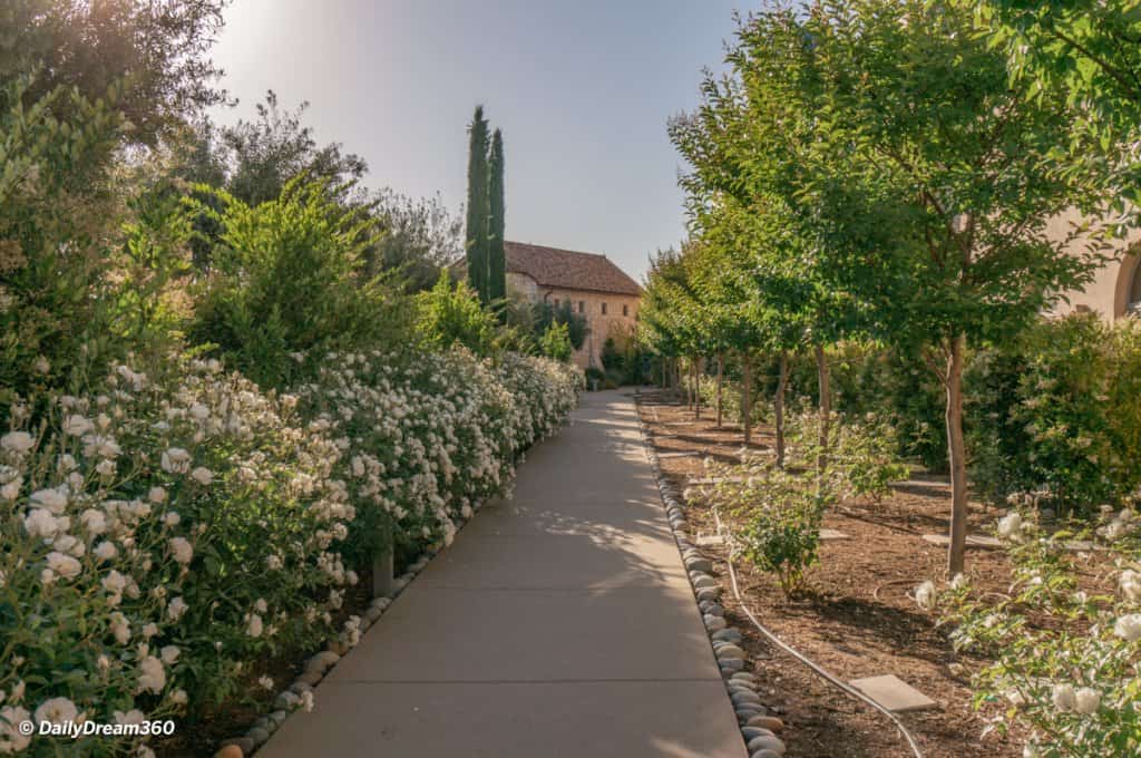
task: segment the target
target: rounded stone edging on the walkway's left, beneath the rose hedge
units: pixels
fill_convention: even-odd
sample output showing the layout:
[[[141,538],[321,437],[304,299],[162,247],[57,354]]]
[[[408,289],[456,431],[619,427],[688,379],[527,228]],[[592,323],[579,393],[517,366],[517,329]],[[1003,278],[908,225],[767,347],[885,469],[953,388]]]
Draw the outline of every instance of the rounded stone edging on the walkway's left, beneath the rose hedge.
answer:
[[[476,513],[483,506],[483,501],[477,502],[472,506],[470,517],[458,517],[454,519],[456,533],[471,522],[471,518],[475,517]],[[390,597],[373,598],[361,616],[349,616],[349,622],[345,631],[339,632],[337,637],[330,639],[325,645],[325,650],[309,658],[305,662],[301,674],[293,680],[293,684],[277,694],[273,703],[274,710],[258,718],[245,734],[225,740],[218,752],[215,753],[215,758],[244,758],[252,755],[269,740],[269,736],[274,732],[281,728],[292,711],[304,707],[306,701],[311,703],[314,696],[313,690],[317,686],[317,683],[333,670],[333,667],[337,666],[343,655],[359,644],[361,639],[364,638],[364,632],[380,621],[380,616],[393,604],[393,600],[407,589],[412,580],[416,578],[416,574],[423,571],[428,562],[436,557],[443,549],[444,546],[438,542],[429,546],[420,554],[419,558],[408,565],[403,574],[393,581],[393,594]],[[353,619],[357,619],[355,626],[353,624]],[[307,695],[306,693],[309,694]]]

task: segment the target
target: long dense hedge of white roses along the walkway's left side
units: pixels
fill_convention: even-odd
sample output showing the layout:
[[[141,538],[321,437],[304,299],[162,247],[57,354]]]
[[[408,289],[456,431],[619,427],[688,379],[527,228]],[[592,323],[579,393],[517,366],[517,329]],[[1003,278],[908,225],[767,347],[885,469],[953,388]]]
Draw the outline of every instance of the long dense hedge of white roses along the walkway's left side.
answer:
[[[17,724],[138,723],[246,691],[335,634],[388,517],[405,542],[505,489],[581,374],[466,352],[331,355],[293,395],[217,362],[116,366],[0,435],[0,753],[149,755]],[[351,622],[351,619],[350,619]],[[268,700],[284,683],[261,678]],[[294,697],[311,707],[311,696]]]

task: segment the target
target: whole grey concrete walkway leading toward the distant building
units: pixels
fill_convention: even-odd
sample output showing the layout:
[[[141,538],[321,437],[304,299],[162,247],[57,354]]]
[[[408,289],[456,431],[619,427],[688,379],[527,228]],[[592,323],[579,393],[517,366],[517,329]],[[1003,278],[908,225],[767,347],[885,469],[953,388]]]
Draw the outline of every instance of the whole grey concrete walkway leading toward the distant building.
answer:
[[[259,751],[744,758],[632,400],[584,396]]]

